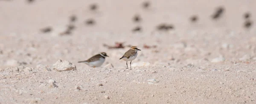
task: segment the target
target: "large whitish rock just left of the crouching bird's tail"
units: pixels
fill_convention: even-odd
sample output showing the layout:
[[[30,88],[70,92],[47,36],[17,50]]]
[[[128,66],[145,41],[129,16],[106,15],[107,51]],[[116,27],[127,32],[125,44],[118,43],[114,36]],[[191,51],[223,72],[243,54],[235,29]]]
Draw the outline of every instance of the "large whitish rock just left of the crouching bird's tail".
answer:
[[[55,71],[74,71],[76,70],[76,66],[69,61],[58,60],[55,64],[52,65],[52,69]]]

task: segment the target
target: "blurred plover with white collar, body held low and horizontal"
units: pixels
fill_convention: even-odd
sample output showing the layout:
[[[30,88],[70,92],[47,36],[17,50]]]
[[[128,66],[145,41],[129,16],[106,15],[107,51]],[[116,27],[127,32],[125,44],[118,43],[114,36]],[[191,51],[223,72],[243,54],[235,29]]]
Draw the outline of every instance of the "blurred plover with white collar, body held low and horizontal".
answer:
[[[104,63],[105,57],[109,56],[105,52],[101,52],[98,55],[90,57],[88,60],[79,61],[78,63],[86,63],[88,66],[95,68],[101,66]]]

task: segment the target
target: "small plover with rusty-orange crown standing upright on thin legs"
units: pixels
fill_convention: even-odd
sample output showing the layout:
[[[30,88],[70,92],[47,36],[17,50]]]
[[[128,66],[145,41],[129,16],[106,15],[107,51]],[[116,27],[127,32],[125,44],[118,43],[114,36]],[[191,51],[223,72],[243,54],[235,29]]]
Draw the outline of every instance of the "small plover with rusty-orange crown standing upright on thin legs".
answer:
[[[140,50],[140,49],[138,49],[136,46],[132,46],[132,47],[131,47],[127,52],[125,52],[125,54],[119,59],[119,60],[123,59],[123,60],[126,61],[127,69],[129,69],[127,62],[134,60],[134,59],[137,57],[137,55],[138,55],[137,51],[139,51],[139,50]],[[140,51],[141,51],[141,50],[140,50]],[[130,62],[130,67],[131,67],[131,62]]]

